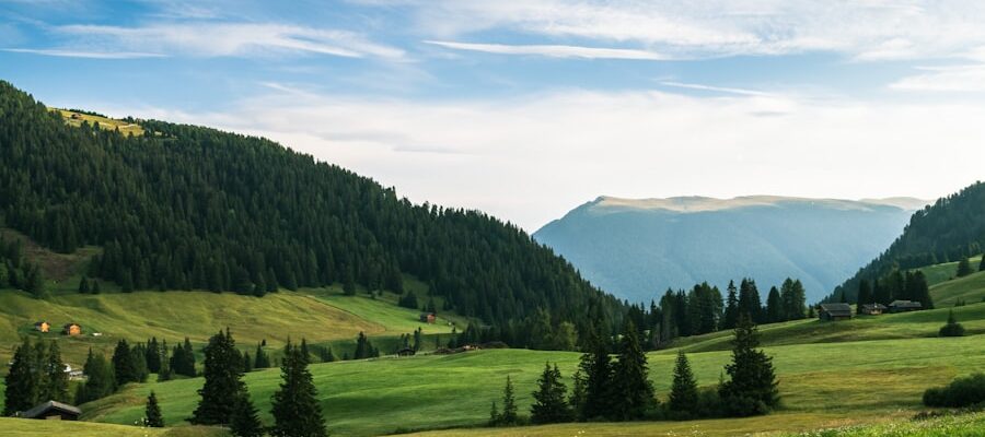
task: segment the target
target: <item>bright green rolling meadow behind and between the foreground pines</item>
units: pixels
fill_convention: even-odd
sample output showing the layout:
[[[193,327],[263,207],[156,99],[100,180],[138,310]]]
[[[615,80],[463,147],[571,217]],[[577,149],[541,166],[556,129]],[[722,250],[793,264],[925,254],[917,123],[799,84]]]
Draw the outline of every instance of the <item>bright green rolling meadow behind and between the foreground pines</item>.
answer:
[[[985,336],[905,339],[767,347],[774,356],[789,421],[783,429],[808,429],[837,416],[872,420],[887,412],[919,408],[924,389],[954,376],[985,367]],[[901,353],[906,351],[906,353]],[[545,362],[557,362],[570,376],[578,354],[523,350],[483,351],[451,356],[418,356],[312,366],[331,429],[341,435],[373,435],[397,427],[441,428],[475,426],[488,414],[502,381],[510,375],[522,410]],[[690,355],[703,385],[718,380],[728,351]],[[650,376],[665,397],[674,351],[650,354]],[[250,391],[269,423],[269,399],[279,382],[276,369],[248,374]],[[85,405],[86,417],[132,423],[142,400],[154,390],[165,418],[177,423],[197,402],[200,379],[134,386],[108,399]],[[872,386],[879,389],[873,390]],[[381,421],[380,417],[386,417]],[[793,426],[793,424],[799,424]],[[679,426],[667,424],[668,426]],[[778,428],[779,429],[779,428]]]

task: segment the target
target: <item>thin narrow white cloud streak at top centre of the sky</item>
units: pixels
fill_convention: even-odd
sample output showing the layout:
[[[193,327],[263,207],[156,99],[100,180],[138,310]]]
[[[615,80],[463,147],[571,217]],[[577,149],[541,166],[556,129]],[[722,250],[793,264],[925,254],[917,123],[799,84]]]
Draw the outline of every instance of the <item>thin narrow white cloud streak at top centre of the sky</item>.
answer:
[[[582,58],[582,59],[633,59],[633,60],[667,60],[663,55],[634,49],[580,47],[559,45],[505,45],[505,44],[471,44],[456,42],[426,40],[427,44],[453,48],[456,50],[484,51],[499,55],[538,55],[551,58]]]

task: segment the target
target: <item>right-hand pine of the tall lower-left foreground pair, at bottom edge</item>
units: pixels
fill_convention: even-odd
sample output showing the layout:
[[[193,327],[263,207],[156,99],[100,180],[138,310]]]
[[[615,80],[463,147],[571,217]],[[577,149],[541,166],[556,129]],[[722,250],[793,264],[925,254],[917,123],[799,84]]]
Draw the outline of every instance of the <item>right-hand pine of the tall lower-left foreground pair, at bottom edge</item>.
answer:
[[[280,367],[283,381],[274,393],[271,414],[275,437],[323,437],[325,418],[317,400],[317,390],[308,370],[308,359],[301,350],[288,342]]]

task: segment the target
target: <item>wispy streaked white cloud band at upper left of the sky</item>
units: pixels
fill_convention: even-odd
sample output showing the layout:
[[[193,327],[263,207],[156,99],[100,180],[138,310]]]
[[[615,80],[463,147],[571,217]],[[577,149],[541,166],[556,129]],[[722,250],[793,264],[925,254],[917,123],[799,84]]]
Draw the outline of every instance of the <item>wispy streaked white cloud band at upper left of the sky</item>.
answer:
[[[404,51],[346,31],[285,24],[189,22],[142,27],[66,25],[67,52],[160,52],[199,57],[282,54],[399,59]]]

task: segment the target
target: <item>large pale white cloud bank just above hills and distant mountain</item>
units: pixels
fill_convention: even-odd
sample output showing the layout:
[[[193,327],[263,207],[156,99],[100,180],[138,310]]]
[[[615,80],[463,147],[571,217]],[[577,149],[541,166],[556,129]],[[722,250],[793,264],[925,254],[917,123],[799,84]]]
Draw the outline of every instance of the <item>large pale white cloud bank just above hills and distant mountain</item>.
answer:
[[[600,194],[936,198],[981,178],[985,158],[985,107],[972,104],[587,91],[419,103],[268,93],[229,114],[137,115],[265,135],[415,201],[477,208],[529,231]],[[764,117],[776,114],[784,116]]]

